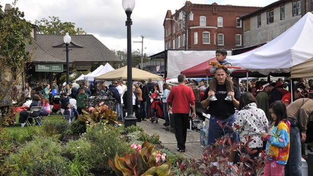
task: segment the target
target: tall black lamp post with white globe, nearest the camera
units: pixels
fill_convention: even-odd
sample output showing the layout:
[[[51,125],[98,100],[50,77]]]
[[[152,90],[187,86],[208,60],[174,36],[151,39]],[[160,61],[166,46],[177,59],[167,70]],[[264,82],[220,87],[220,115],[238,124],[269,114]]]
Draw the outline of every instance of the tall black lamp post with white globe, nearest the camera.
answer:
[[[131,25],[133,24],[131,17],[135,7],[135,0],[122,0],[122,5],[127,15],[127,116],[125,117],[125,127],[136,125],[137,118],[133,111],[133,91],[132,91],[132,41],[131,41]]]

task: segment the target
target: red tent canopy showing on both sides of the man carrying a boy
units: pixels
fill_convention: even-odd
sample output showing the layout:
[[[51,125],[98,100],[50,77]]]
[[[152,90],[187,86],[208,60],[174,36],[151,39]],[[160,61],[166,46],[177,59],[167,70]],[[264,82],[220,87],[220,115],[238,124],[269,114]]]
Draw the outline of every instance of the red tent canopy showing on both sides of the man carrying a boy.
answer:
[[[181,74],[186,75],[186,77],[210,77],[213,76],[213,74],[210,73],[210,68],[212,67],[209,65],[209,62],[213,61],[216,62],[216,57],[209,59],[201,64],[198,64],[196,66],[193,66],[191,68],[188,68],[186,70],[181,71]],[[234,77],[246,77],[246,72],[249,72],[250,76],[254,77],[264,77],[265,75],[262,75],[260,73],[252,73],[250,70],[234,70],[232,72],[232,76]]]

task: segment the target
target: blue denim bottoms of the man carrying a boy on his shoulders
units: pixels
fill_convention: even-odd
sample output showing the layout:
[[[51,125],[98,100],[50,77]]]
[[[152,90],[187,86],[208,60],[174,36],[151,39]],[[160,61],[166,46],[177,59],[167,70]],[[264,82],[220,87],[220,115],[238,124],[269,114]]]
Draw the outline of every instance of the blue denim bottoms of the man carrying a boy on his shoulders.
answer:
[[[238,142],[239,136],[238,133],[234,133],[234,131],[227,126],[225,126],[224,131],[219,126],[217,121],[222,122],[224,125],[226,122],[228,122],[227,125],[232,126],[232,123],[234,122],[234,115],[229,116],[226,119],[218,119],[215,116],[211,115],[210,117],[210,123],[209,123],[209,137],[208,137],[208,145],[212,145],[216,142],[217,138],[220,138],[226,134],[232,134],[231,142]]]

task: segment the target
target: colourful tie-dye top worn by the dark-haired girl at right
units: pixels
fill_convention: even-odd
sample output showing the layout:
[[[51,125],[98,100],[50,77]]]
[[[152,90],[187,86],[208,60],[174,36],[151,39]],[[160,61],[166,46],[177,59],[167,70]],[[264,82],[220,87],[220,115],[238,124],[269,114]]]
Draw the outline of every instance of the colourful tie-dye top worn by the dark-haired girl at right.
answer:
[[[289,156],[290,122],[280,121],[277,126],[272,126],[266,140],[268,160],[285,165]]]

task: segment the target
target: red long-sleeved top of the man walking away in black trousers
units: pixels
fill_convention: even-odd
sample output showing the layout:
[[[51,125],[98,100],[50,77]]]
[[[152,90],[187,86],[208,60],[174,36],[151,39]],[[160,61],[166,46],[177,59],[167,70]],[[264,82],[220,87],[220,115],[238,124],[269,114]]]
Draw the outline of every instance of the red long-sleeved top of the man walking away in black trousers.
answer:
[[[179,84],[173,86],[167,104],[172,106],[172,112],[175,114],[187,114],[190,111],[190,105],[194,105],[194,94],[191,87]]]

